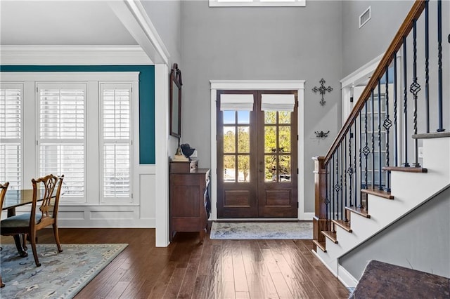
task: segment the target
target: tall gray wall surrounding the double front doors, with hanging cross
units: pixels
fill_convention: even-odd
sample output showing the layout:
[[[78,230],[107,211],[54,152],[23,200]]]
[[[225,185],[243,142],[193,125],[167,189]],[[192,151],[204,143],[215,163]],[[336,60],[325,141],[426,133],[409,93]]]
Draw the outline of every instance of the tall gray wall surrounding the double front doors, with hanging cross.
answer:
[[[308,1],[303,8],[210,8],[207,1],[182,1],[181,139],[198,150],[199,166],[210,167],[210,80],[304,79],[304,208],[314,212],[311,157],[326,154],[340,123],[341,25],[340,1]],[[334,88],[325,106],[311,91],[321,78]],[[314,131],[330,135],[318,140]]]

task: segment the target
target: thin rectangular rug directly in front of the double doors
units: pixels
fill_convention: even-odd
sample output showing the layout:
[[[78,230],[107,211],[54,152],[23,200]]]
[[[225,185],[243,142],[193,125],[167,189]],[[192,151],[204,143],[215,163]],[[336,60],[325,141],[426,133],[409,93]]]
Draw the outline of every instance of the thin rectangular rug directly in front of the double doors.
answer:
[[[210,239],[312,239],[312,222],[212,222]]]

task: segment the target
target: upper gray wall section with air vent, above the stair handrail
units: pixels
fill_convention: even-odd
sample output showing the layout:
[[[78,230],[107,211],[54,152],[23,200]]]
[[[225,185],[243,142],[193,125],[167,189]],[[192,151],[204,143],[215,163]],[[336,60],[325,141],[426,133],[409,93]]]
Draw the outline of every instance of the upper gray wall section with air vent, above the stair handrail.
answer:
[[[343,1],[342,77],[386,51],[412,5],[413,1]],[[371,20],[360,29],[359,15],[368,6]]]

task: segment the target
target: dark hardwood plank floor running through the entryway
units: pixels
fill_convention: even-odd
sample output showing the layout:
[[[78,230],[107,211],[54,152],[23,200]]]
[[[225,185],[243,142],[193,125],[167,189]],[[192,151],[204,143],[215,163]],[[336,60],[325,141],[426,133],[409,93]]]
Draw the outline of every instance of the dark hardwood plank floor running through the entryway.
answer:
[[[39,243],[53,243],[51,230]],[[211,240],[178,233],[155,247],[154,229],[60,229],[62,244],[129,246],[75,298],[347,298],[311,253],[311,240]],[[12,237],[1,237],[11,243]],[[64,246],[63,246],[64,249]],[[30,249],[29,249],[30,250]],[[39,250],[39,245],[38,245]]]

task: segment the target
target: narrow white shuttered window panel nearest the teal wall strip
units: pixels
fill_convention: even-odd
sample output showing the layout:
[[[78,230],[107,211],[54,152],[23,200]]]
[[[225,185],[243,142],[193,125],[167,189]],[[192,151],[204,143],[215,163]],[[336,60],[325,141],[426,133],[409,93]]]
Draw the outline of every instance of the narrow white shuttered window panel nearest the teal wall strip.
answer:
[[[101,84],[103,197],[131,199],[131,84]]]

